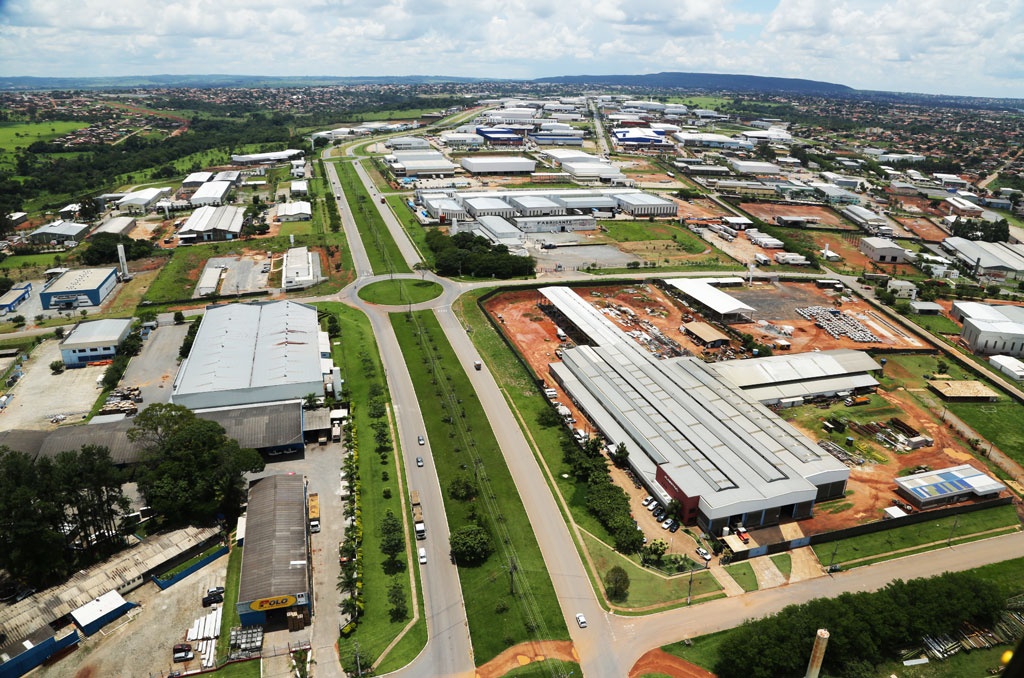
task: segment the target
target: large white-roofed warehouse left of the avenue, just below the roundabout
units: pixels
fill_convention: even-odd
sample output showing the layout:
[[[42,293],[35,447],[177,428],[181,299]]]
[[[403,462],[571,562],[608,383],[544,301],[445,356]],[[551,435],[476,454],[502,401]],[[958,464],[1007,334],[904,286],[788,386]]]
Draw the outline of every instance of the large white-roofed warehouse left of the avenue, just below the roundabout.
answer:
[[[210,306],[171,401],[201,410],[322,394],[318,333],[316,309],[294,301]]]

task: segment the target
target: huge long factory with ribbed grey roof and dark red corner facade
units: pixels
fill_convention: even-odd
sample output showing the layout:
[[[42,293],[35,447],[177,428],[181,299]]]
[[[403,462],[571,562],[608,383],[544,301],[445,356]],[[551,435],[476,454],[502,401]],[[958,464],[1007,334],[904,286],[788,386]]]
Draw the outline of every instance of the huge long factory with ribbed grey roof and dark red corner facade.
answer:
[[[540,292],[593,344],[564,350],[549,366],[555,381],[685,522],[715,535],[761,527],[844,495],[844,464],[702,361],[656,359],[568,288]]]

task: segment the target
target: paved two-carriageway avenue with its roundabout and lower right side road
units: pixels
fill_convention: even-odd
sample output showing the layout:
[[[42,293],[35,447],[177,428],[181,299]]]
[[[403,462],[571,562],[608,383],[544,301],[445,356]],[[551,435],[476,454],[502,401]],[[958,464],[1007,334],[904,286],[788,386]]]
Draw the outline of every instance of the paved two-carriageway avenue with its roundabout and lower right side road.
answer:
[[[353,147],[348,150],[350,155],[353,150]],[[450,563],[447,557],[447,527],[440,488],[436,472],[430,463],[429,446],[421,448],[417,441],[417,436],[426,435],[422,413],[404,357],[388,319],[389,313],[401,312],[408,308],[434,311],[463,369],[469,375],[522,498],[551,576],[562,616],[579,653],[583,672],[590,678],[622,678],[629,674],[636,661],[649,649],[681,638],[732,628],[746,619],[775,612],[788,604],[821,596],[835,596],[846,591],[876,590],[894,579],[910,579],[947,570],[969,569],[989,562],[1024,556],[1024,533],[1016,533],[860,567],[834,577],[820,577],[656,615],[625,617],[605,611],[590,584],[567,525],[563,520],[553,517],[558,515],[558,507],[548,489],[543,471],[519,428],[518,421],[486,365],[484,364],[480,371],[472,369],[472,363],[480,359],[479,355],[467,335],[466,328],[453,312],[453,303],[462,293],[475,288],[493,287],[496,284],[456,283],[433,273],[426,273],[427,279],[442,287],[441,295],[431,301],[411,306],[378,306],[364,302],[358,298],[357,292],[366,285],[393,278],[416,280],[420,276],[373,273],[358,229],[347,209],[334,164],[325,162],[325,165],[328,168],[329,182],[341,209],[345,236],[355,262],[356,281],[337,296],[324,300],[343,301],[359,308],[370,319],[387,375],[388,387],[391,389],[406,467],[411,469],[407,484],[411,490],[420,492],[427,521],[427,540],[417,543],[418,546],[426,544],[425,548],[428,551],[428,565],[423,567],[421,573],[428,628],[427,645],[416,660],[390,675],[401,678],[472,676],[474,669],[458,569]],[[368,193],[371,196],[378,195],[369,176],[360,170],[361,168],[357,168],[359,178]],[[373,202],[398,244],[399,251],[412,267],[421,260],[416,248],[390,208],[381,205],[379,200]],[[652,277],[660,276],[647,272],[622,278]],[[579,274],[560,278],[566,283],[586,279],[587,277]],[[521,284],[521,281],[505,284]],[[416,467],[417,456],[424,457],[426,463],[423,468]],[[574,620],[577,612],[583,612],[587,617],[587,629],[580,629],[577,626]]]

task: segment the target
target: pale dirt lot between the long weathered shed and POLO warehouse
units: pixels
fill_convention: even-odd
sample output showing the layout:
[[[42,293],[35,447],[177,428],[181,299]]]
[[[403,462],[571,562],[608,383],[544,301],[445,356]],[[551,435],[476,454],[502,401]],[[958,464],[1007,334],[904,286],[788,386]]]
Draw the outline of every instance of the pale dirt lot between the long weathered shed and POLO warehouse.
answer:
[[[130,623],[87,638],[67,658],[42,667],[34,676],[41,678],[144,678],[161,671],[196,670],[199,662],[173,664],[171,647],[185,642],[193,622],[211,607],[203,607],[206,590],[224,585],[227,556],[186,577],[166,591],[150,582],[125,594],[125,600],[139,603],[141,611]],[[119,622],[109,625],[114,629]],[[194,643],[195,644],[195,643]]]

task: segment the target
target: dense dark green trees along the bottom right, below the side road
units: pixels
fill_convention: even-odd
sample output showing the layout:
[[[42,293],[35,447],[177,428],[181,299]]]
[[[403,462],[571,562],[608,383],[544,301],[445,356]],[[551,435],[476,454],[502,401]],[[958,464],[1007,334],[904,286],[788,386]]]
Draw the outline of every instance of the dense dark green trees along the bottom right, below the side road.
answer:
[[[815,633],[827,629],[824,675],[867,678],[924,636],[985,624],[1004,606],[997,587],[970,571],[896,580],[873,593],[818,598],[748,621],[721,645],[714,670],[719,678],[803,675]]]

